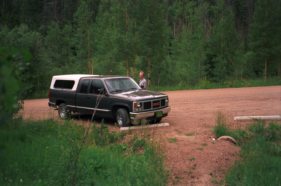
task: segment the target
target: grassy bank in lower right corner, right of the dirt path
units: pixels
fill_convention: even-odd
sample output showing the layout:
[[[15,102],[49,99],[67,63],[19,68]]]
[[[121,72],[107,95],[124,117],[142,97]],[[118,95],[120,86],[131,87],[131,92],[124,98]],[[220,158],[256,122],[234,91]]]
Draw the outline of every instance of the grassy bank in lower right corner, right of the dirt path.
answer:
[[[225,122],[222,113],[217,114],[214,132],[217,137],[231,136],[242,148],[241,159],[226,174],[225,184],[244,185],[281,185],[281,126],[278,122],[266,124],[253,120],[245,130],[233,130]],[[221,183],[224,181],[221,180]]]

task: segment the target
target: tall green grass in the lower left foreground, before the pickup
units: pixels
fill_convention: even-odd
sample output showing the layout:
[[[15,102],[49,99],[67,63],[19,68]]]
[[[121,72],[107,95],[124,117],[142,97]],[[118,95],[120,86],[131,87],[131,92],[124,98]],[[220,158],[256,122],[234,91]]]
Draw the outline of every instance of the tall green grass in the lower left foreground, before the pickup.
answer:
[[[109,132],[103,123],[94,125],[79,151],[85,127],[74,121],[17,120],[13,124],[14,130],[0,126],[0,185],[166,183],[163,150],[149,131],[129,135]]]

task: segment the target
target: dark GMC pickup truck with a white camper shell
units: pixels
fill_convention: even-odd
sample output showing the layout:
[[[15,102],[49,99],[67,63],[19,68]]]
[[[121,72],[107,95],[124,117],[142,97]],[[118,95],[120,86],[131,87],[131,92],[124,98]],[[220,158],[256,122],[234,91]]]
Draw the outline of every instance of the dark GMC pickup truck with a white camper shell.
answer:
[[[95,116],[116,118],[119,127],[130,126],[132,119],[160,122],[171,110],[167,95],[143,90],[130,77],[113,75],[53,76],[48,104],[63,119],[95,111]]]

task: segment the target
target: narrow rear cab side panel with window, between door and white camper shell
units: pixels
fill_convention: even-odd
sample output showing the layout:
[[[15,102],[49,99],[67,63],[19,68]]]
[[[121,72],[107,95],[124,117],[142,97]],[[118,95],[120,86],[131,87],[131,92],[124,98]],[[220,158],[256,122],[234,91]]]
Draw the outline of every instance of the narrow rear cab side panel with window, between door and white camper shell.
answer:
[[[87,103],[88,103],[88,89],[90,84],[90,78],[88,79],[81,79],[78,84],[78,89],[76,93],[76,110],[78,113],[85,113],[90,114],[89,110],[87,109]]]

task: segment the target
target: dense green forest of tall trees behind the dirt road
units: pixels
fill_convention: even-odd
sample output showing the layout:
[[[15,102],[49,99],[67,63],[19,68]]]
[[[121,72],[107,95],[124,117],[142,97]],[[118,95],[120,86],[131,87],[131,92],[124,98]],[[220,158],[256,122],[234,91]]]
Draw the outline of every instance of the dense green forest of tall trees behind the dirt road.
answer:
[[[138,82],[144,71],[148,86],[281,77],[280,0],[0,0],[0,8],[0,47],[32,56],[18,77],[24,97],[63,74]]]

